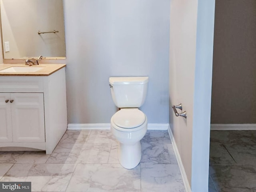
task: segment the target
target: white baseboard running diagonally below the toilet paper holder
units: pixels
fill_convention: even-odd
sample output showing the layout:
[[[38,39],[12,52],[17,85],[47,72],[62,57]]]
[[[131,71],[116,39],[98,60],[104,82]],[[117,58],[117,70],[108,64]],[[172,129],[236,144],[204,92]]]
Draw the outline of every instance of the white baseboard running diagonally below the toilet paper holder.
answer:
[[[168,125],[168,133],[169,133],[169,136],[170,136],[170,139],[171,139],[171,142],[172,142],[172,146],[173,146],[174,153],[175,153],[175,156],[176,156],[176,159],[177,159],[177,162],[178,162],[178,166],[180,168],[180,173],[181,173],[182,180],[183,180],[183,183],[184,183],[184,186],[185,186],[185,190],[186,190],[186,192],[191,192],[191,188],[190,188],[190,185],[189,185],[189,182],[188,182],[188,178],[187,178],[184,166],[182,164],[180,153],[178,151],[178,147],[176,145],[176,142],[175,142],[174,136],[172,134],[172,130],[170,128],[170,125]]]

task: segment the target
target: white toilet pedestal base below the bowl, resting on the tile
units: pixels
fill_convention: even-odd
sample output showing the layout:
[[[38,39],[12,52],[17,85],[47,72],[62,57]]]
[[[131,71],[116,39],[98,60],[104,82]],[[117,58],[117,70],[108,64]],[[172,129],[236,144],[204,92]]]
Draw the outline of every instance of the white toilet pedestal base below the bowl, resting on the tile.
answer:
[[[132,169],[140,163],[141,159],[140,141],[135,144],[122,144],[119,142],[118,160],[126,169]]]

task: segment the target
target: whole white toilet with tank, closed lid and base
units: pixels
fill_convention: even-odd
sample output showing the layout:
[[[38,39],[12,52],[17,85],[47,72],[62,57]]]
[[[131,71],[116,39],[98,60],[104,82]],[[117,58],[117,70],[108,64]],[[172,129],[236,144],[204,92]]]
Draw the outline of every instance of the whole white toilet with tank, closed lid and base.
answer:
[[[139,110],[146,99],[148,77],[110,77],[110,90],[114,104],[120,108],[110,122],[111,131],[119,142],[118,160],[126,169],[140,163],[140,140],[147,131],[148,120]]]

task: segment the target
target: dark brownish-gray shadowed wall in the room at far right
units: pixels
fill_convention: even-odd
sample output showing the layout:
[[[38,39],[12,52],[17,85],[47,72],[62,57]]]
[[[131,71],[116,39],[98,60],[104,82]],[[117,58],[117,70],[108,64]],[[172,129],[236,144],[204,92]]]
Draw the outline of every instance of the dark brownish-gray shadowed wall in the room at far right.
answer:
[[[256,123],[255,21],[255,0],[216,0],[212,123]]]

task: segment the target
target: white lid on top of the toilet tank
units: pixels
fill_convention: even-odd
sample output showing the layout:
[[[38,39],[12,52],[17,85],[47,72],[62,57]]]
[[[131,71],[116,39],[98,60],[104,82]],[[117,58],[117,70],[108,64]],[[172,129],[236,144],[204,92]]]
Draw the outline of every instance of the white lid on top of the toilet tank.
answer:
[[[148,77],[110,77],[109,82],[111,85],[146,84],[148,82]]]

